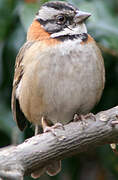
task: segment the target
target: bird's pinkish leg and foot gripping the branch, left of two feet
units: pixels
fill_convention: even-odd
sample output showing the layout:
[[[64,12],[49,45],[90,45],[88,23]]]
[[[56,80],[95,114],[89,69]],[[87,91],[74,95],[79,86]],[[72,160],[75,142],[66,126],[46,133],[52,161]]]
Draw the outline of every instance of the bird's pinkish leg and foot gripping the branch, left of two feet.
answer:
[[[64,130],[64,126],[61,123],[56,123],[53,126],[49,126],[44,117],[41,118],[41,124],[42,124],[44,133],[45,132],[52,132],[52,134],[54,136],[56,136],[56,133],[55,133],[56,128],[62,128]]]

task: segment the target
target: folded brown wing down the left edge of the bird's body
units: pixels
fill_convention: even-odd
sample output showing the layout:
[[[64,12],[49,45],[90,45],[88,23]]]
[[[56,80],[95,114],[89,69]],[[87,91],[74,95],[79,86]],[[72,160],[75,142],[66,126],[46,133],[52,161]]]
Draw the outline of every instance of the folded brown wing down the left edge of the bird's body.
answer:
[[[14,74],[13,90],[12,90],[12,112],[13,112],[14,120],[17,122],[17,125],[21,131],[23,131],[24,128],[26,127],[27,119],[20,108],[18,98],[16,98],[16,89],[24,73],[22,60],[25,56],[25,52],[31,47],[33,43],[34,42],[26,42],[23,45],[23,47],[20,49],[16,57],[16,63],[15,63],[15,74]]]

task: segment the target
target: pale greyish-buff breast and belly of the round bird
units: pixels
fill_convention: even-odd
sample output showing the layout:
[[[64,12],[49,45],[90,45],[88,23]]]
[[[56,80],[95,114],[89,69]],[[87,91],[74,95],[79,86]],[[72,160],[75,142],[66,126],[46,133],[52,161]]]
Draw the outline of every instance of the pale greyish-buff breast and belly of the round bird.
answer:
[[[104,64],[94,42],[64,42],[35,54],[32,62],[22,79],[20,105],[35,124],[42,115],[53,123],[66,124],[75,113],[88,113],[99,101]]]

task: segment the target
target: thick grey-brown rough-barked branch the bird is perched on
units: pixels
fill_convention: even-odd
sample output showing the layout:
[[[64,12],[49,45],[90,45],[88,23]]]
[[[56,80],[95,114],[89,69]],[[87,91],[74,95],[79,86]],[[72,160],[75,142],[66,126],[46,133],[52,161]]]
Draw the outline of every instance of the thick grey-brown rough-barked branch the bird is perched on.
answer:
[[[17,146],[1,148],[0,178],[21,180],[24,175],[49,164],[96,146],[118,142],[118,106],[83,121],[71,122],[27,139]]]

